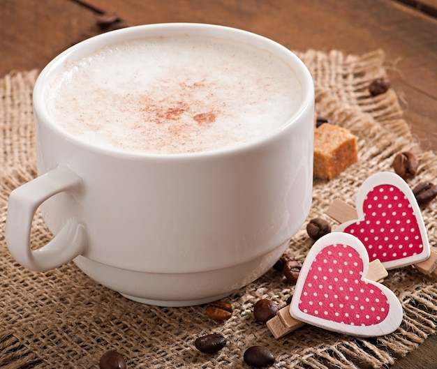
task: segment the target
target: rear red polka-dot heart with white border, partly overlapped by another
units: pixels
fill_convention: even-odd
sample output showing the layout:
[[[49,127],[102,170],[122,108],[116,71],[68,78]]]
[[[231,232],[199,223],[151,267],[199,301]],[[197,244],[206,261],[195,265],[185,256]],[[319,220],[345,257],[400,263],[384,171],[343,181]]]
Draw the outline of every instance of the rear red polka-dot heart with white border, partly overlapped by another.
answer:
[[[407,183],[391,172],[370,176],[357,193],[357,220],[339,225],[334,232],[356,236],[369,259],[385,269],[423,262],[431,248],[422,213]]]

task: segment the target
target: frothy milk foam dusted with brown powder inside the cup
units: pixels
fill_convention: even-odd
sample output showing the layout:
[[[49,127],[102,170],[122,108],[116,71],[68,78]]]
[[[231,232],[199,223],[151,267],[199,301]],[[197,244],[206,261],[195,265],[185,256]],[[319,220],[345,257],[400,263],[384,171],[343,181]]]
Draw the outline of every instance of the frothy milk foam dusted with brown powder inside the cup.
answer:
[[[283,126],[302,88],[267,52],[175,36],[105,47],[59,75],[47,111],[80,140],[147,153],[209,151]]]

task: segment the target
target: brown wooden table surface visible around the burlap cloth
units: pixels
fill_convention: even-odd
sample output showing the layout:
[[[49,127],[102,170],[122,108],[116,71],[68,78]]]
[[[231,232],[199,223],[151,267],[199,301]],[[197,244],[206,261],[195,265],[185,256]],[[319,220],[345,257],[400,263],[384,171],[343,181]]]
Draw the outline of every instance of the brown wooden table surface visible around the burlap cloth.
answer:
[[[422,149],[437,152],[437,0],[0,0],[0,77],[43,68],[82,37],[96,16],[124,22],[207,22],[260,33],[291,50],[382,49],[405,119]],[[437,338],[395,369],[436,368]]]

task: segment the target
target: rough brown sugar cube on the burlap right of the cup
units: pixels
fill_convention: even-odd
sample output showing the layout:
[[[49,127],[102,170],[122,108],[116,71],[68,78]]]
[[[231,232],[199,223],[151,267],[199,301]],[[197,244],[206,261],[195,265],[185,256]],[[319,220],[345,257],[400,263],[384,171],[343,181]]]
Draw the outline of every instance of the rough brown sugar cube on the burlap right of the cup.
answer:
[[[314,130],[314,177],[333,179],[357,160],[357,137],[348,130],[332,124]]]

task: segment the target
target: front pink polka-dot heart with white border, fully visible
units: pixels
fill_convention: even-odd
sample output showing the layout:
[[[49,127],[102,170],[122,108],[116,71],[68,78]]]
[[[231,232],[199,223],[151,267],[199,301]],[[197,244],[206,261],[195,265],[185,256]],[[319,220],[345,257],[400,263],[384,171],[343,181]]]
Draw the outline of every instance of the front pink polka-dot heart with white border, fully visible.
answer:
[[[369,255],[362,242],[330,233],[309,250],[297,279],[290,315],[329,331],[383,336],[402,322],[401,303],[390,289],[366,279]]]

